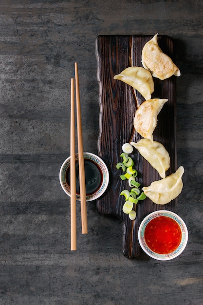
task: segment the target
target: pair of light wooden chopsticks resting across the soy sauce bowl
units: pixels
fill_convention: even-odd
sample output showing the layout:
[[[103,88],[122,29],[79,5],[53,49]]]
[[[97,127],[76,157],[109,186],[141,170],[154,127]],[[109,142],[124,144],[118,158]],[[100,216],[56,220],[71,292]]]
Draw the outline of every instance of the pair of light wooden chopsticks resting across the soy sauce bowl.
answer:
[[[88,233],[87,206],[85,188],[85,166],[83,154],[81,107],[78,66],[75,62],[75,92],[76,92],[76,118],[77,118],[77,146],[79,163],[80,205],[82,234]],[[75,176],[75,114],[74,114],[74,78],[71,78],[71,250],[76,250],[76,176]]]

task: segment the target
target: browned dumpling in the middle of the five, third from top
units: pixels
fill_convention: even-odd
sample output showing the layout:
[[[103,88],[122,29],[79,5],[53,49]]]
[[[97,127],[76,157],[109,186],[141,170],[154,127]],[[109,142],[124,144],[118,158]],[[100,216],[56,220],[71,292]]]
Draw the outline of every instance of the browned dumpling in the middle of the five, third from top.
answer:
[[[157,115],[162,110],[166,98],[152,98],[143,102],[134,117],[134,128],[144,138],[153,141],[153,131],[157,124]]]

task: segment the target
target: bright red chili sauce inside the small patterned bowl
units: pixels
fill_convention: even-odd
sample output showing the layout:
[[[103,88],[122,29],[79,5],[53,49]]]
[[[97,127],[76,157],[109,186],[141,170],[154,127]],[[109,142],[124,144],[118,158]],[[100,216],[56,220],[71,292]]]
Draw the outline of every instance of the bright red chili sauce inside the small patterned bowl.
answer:
[[[148,248],[152,251],[167,254],[178,248],[181,243],[182,232],[174,219],[159,216],[153,218],[147,224],[144,237]]]

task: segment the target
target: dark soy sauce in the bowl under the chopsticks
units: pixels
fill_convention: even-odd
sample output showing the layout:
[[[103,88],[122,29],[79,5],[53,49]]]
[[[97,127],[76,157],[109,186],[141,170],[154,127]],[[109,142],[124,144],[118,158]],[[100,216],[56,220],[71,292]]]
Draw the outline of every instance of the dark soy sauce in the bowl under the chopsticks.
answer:
[[[99,190],[102,184],[102,172],[100,168],[91,160],[84,159],[85,165],[85,185],[86,185],[86,195],[92,195]],[[70,167],[66,171],[66,182],[69,186],[70,183]],[[80,193],[79,186],[79,164],[78,160],[75,161],[75,173],[76,173],[76,193]]]

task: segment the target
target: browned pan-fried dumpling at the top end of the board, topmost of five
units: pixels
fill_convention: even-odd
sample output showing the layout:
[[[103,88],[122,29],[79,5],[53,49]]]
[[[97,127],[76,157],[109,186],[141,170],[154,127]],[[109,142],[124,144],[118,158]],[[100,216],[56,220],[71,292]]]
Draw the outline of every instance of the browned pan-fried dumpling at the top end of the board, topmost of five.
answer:
[[[166,79],[172,75],[180,76],[179,68],[172,59],[162,52],[157,42],[157,35],[149,40],[142,50],[142,64],[147,70],[150,70],[152,76],[159,79]]]

